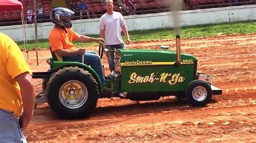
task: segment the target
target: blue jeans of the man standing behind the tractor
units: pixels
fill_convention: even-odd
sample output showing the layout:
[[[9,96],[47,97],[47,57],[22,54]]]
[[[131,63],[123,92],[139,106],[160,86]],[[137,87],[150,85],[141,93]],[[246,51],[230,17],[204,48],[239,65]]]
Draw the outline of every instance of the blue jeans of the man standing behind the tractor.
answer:
[[[114,49],[122,49],[125,48],[124,44],[117,44],[117,45],[106,45],[107,49],[114,50]],[[107,52],[107,60],[109,61],[109,68],[111,71],[114,70],[114,52]]]

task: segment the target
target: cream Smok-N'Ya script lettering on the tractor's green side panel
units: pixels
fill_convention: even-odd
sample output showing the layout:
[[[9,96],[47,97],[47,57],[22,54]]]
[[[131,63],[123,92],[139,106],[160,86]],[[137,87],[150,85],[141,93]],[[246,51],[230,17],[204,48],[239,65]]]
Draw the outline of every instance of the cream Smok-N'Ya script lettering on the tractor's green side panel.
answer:
[[[156,77],[156,73],[151,73],[147,76],[139,76],[137,73],[132,73],[128,83],[153,83],[156,81],[168,83],[170,85],[175,85],[177,83],[182,83],[186,80],[185,77],[181,76],[180,73],[161,73],[160,77]]]

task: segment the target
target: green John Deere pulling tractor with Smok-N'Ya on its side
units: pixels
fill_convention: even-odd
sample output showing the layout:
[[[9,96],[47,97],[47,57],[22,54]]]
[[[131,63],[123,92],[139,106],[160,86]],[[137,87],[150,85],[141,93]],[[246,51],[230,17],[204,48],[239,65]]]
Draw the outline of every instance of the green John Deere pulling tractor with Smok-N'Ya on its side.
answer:
[[[157,100],[164,96],[184,98],[192,106],[203,106],[212,95],[222,90],[212,85],[210,75],[197,71],[197,59],[180,53],[180,37],[176,35],[177,51],[161,49],[116,49],[99,46],[99,55],[114,52],[115,70],[105,76],[106,86],[113,90],[102,94],[99,76],[90,66],[79,62],[48,59],[47,72],[33,73],[43,78],[43,92],[37,95],[37,105],[48,102],[61,118],[76,119],[89,116],[98,98],[119,97],[132,101]],[[122,71],[122,73],[121,73]]]

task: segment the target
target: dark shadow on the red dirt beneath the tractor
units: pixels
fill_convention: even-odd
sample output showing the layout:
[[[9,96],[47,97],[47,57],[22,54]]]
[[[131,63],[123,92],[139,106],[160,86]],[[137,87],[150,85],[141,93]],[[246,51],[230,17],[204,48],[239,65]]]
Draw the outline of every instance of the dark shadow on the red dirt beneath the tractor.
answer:
[[[118,102],[118,101],[115,101]],[[217,103],[215,100],[211,100],[209,104]],[[207,105],[206,105],[207,106]],[[97,107],[95,112],[90,116],[90,118],[102,118],[114,116],[118,117],[132,117],[132,116],[143,116],[143,115],[152,115],[163,112],[182,112],[190,110],[198,110],[205,108],[206,106],[192,107],[190,106],[185,99],[161,99],[160,101],[148,101],[148,102],[134,102],[131,101],[126,105],[108,105],[104,107]],[[48,118],[48,119],[57,119],[56,114],[51,111],[49,106],[45,106],[40,109],[36,109],[34,116],[39,116],[36,118]],[[84,118],[86,119],[86,118]],[[84,120],[79,119],[79,120]],[[44,120],[44,119],[43,119]]]

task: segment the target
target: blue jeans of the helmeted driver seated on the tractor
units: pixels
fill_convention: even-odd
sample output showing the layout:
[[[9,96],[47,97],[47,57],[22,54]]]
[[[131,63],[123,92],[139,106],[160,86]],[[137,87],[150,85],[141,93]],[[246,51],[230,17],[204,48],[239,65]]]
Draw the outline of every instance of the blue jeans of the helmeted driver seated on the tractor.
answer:
[[[82,55],[63,56],[62,58],[63,61],[82,62]],[[96,52],[86,51],[84,54],[84,64],[91,66],[91,68],[94,69],[99,75],[102,84],[106,84],[102,68],[102,62],[100,60],[100,56]]]

